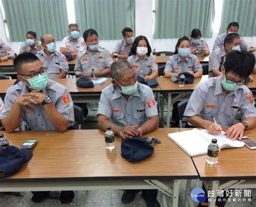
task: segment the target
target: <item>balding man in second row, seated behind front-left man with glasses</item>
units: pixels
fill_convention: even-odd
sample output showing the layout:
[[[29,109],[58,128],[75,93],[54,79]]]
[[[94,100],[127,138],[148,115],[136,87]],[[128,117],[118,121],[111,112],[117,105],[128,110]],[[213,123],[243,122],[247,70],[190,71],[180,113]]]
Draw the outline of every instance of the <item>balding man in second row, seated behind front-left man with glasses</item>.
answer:
[[[41,36],[43,50],[36,55],[43,62],[49,78],[65,78],[69,73],[69,64],[65,55],[56,51],[55,39],[51,34]]]

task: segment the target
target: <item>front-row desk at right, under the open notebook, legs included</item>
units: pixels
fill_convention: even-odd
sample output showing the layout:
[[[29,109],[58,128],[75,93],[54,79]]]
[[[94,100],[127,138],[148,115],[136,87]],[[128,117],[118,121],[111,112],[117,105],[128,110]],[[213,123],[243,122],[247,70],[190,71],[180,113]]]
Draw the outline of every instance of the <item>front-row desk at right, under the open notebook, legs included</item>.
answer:
[[[179,129],[180,131],[191,129]],[[226,129],[224,129],[226,131]],[[256,141],[256,128],[246,130],[244,135]],[[256,188],[256,151],[246,146],[241,148],[223,148],[219,153],[217,165],[208,165],[206,155],[194,156],[191,159],[197,169],[199,179],[207,190],[213,190],[216,197],[217,189],[250,189]],[[190,186],[188,181],[187,186]],[[242,194],[243,195],[243,194]],[[210,207],[215,202],[209,202]]]

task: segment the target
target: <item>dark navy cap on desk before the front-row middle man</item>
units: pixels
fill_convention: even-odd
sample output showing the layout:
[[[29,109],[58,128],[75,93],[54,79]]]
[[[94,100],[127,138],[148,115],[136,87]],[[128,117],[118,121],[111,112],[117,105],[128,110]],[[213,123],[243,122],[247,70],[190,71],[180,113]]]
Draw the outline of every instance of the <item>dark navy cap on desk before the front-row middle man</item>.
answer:
[[[154,153],[154,148],[145,138],[133,137],[123,139],[121,144],[121,155],[129,162],[144,160]]]

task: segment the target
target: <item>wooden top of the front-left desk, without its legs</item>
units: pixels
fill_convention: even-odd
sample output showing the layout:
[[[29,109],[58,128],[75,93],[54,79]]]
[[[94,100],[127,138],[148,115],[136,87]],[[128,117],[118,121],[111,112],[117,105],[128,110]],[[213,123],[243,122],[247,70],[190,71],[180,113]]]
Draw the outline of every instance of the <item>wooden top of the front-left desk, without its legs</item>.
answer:
[[[150,158],[136,163],[129,163],[120,155],[120,138],[116,137],[114,151],[106,151],[104,132],[100,130],[3,131],[10,145],[20,146],[25,140],[38,140],[32,159],[9,179],[197,179],[190,156],[167,137],[167,133],[177,131],[178,128],[157,129],[147,134],[157,135],[161,144],[154,145],[155,151]]]

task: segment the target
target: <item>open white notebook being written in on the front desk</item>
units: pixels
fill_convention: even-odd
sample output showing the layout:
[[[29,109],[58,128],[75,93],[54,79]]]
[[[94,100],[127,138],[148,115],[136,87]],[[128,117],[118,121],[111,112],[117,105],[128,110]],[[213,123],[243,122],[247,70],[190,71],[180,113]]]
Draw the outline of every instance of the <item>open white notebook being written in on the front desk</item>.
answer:
[[[207,153],[207,147],[212,142],[212,139],[218,140],[220,149],[226,147],[242,147],[244,142],[239,140],[232,141],[228,139],[224,133],[212,135],[207,130],[187,130],[168,134],[168,137],[176,142],[187,154],[196,156]]]

